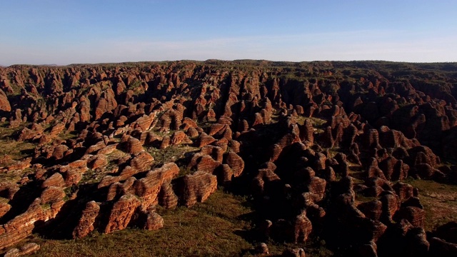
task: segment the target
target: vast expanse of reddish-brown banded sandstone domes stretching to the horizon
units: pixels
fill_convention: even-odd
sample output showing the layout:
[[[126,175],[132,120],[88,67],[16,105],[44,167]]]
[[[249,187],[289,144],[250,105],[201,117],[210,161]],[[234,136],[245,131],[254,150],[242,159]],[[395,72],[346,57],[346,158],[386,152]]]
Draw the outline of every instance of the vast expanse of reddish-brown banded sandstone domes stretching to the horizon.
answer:
[[[192,208],[221,186],[256,209],[257,242],[318,237],[341,256],[453,256],[455,226],[426,231],[431,205],[410,181],[457,183],[455,70],[248,60],[0,67],[0,140],[17,140],[0,156],[0,249],[32,232],[160,229],[157,206]],[[7,254],[39,248],[16,247]]]

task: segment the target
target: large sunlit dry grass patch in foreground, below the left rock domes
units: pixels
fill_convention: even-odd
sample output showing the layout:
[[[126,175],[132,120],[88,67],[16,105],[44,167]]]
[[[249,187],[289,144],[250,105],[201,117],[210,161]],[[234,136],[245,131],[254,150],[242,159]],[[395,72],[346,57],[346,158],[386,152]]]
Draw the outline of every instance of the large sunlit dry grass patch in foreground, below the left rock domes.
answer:
[[[92,233],[78,240],[32,238],[41,244],[34,256],[241,256],[252,248],[241,235],[251,224],[244,198],[216,191],[194,208],[159,208],[165,226],[159,231],[128,228]]]

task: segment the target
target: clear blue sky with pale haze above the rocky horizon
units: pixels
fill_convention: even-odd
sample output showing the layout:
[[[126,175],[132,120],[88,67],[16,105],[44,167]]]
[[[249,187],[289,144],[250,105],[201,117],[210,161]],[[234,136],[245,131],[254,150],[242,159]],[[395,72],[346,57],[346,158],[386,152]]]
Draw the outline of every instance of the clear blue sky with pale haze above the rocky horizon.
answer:
[[[457,61],[455,0],[0,0],[0,64]]]

